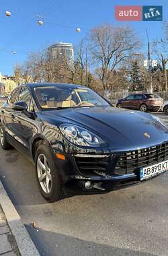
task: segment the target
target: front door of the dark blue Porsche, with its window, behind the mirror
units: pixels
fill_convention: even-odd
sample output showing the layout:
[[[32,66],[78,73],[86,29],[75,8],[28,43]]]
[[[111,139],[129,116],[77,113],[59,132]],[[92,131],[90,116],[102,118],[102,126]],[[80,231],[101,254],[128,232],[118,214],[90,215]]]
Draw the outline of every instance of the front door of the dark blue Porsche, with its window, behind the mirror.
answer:
[[[20,146],[24,150],[30,152],[30,143],[32,141],[33,134],[37,132],[36,130],[36,120],[34,115],[34,101],[32,99],[30,90],[27,86],[22,86],[19,92],[17,102],[26,102],[28,105],[28,112],[15,111],[13,114],[13,119],[15,125],[13,126],[13,133],[17,139],[17,146]],[[28,115],[30,114],[30,115]]]

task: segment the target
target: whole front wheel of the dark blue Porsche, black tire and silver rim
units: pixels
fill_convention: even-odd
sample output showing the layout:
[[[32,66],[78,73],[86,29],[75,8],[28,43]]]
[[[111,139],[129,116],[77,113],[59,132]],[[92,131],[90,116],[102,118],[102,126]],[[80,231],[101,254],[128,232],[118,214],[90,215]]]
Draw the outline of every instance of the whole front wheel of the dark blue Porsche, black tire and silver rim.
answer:
[[[63,194],[62,182],[55,164],[54,154],[47,144],[38,146],[35,156],[35,169],[42,196],[50,202],[59,201]]]

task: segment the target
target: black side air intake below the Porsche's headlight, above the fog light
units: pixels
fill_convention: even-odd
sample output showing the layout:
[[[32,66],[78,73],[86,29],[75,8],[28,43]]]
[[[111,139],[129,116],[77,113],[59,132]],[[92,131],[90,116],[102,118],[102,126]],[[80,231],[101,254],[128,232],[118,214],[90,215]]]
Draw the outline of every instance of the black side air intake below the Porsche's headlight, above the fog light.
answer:
[[[77,164],[77,168],[83,176],[91,176],[91,175],[106,176],[110,161],[111,161],[110,156],[106,156],[106,155],[75,156],[75,162]]]

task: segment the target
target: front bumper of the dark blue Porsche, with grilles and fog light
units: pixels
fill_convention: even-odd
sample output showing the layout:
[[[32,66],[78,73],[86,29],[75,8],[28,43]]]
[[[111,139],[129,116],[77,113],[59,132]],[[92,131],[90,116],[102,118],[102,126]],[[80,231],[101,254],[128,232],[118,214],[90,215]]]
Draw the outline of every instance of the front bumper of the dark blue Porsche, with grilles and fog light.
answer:
[[[69,154],[65,161],[59,160],[59,166],[65,186],[107,191],[116,186],[139,183],[140,167],[167,159],[168,142],[165,142],[151,148],[114,154]]]

